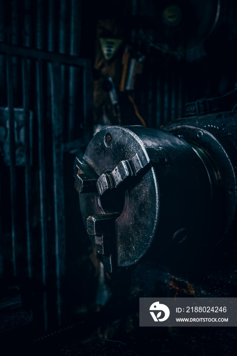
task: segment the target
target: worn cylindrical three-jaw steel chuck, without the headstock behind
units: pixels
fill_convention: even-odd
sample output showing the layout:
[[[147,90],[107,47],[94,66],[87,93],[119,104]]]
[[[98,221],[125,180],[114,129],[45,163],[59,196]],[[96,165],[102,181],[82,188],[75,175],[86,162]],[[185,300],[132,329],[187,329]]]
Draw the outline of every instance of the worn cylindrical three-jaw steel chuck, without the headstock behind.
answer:
[[[84,225],[106,271],[147,259],[173,263],[206,244],[218,177],[208,155],[180,135],[108,126],[75,159],[74,172]]]

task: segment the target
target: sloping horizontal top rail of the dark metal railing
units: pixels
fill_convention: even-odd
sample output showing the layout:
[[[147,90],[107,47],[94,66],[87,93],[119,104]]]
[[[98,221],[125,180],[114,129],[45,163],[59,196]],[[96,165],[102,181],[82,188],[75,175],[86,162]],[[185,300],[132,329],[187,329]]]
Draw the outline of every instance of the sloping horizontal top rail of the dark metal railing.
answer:
[[[78,58],[76,55],[63,53],[45,52],[39,49],[14,46],[6,43],[0,43],[0,53],[8,53],[14,56],[31,57],[45,60],[48,62],[59,62],[69,66],[85,67],[90,62],[86,58]]]

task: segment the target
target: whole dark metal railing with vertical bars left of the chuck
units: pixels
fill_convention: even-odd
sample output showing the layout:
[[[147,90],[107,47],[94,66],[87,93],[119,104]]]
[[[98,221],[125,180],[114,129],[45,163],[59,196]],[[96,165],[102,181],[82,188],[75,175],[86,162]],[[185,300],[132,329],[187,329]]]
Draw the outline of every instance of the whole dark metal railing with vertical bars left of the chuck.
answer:
[[[39,172],[39,195],[40,195],[40,226],[41,226],[41,263],[42,263],[42,283],[47,284],[48,269],[48,216],[47,216],[47,197],[46,181],[48,177],[48,166],[52,162],[52,187],[54,205],[54,236],[55,236],[55,276],[56,276],[56,306],[58,323],[62,321],[62,283],[65,277],[65,203],[64,203],[64,121],[63,103],[65,90],[63,82],[65,69],[79,68],[80,91],[78,97],[83,105],[83,117],[76,120],[80,122],[83,140],[86,143],[91,137],[93,119],[93,79],[90,61],[78,58],[75,55],[66,55],[54,52],[46,52],[38,49],[30,49],[15,45],[0,43],[1,57],[6,61],[6,84],[7,84],[7,111],[9,123],[9,143],[10,143],[10,204],[11,204],[11,235],[12,235],[12,269],[13,276],[21,274],[21,241],[19,239],[18,213],[19,203],[17,202],[17,171],[16,171],[16,141],[15,141],[15,106],[13,90],[13,61],[19,58],[22,84],[22,109],[24,126],[24,181],[25,181],[25,202],[22,202],[22,209],[25,209],[26,245],[27,245],[27,274],[28,278],[34,275],[35,261],[33,256],[33,214],[34,196],[32,182],[32,154],[38,152],[38,167],[34,171]],[[47,75],[46,75],[47,73]],[[74,73],[75,74],[75,73]],[[32,80],[32,75],[35,80]],[[20,75],[18,75],[20,76]],[[46,79],[47,76],[47,79]],[[35,102],[31,102],[32,93],[29,88],[29,81],[35,82],[35,88],[31,85],[31,91],[35,91]],[[49,83],[45,85],[44,82]],[[70,86],[70,84],[69,84]],[[48,89],[47,100],[45,91]],[[70,90],[70,87],[69,87]],[[67,93],[66,93],[67,94]],[[74,103],[77,104],[76,102]],[[47,110],[45,106],[47,105]],[[49,109],[50,107],[50,109]],[[32,132],[32,122],[30,111],[33,111],[34,134]],[[45,126],[47,115],[51,121],[51,139]],[[72,129],[72,123],[70,123]],[[37,128],[37,129],[36,129]],[[47,133],[47,139],[45,135]],[[32,136],[34,144],[32,146]],[[51,141],[51,152],[46,152],[46,140]],[[50,144],[51,144],[50,142]],[[32,153],[32,150],[34,151]],[[50,156],[50,163],[49,161]],[[35,162],[34,162],[35,165]],[[1,192],[1,191],[0,191]],[[4,202],[7,204],[8,202]],[[2,205],[3,206],[3,205]],[[51,233],[51,231],[50,231]],[[38,244],[38,243],[37,243]],[[39,245],[39,244],[38,244]],[[0,251],[0,275],[4,276],[4,251]],[[5,271],[6,272],[6,271]],[[47,295],[44,292],[44,324],[47,329]]]

